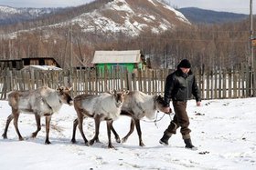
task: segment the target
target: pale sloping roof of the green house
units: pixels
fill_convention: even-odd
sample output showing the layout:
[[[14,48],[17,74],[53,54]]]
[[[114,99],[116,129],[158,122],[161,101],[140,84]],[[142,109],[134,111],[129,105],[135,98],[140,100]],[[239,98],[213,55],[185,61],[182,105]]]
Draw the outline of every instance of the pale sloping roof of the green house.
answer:
[[[129,51],[95,51],[93,64],[111,64],[111,63],[140,63],[140,50]]]

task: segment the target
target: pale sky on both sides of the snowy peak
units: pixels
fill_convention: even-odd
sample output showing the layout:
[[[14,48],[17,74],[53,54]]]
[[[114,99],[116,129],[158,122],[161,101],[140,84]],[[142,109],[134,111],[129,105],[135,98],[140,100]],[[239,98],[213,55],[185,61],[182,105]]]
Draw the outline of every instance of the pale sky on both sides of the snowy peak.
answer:
[[[0,5],[12,7],[66,7],[83,5],[93,0],[0,0]],[[250,14],[250,0],[165,0],[176,7],[199,7],[216,11]],[[253,14],[256,14],[256,2],[254,0]]]

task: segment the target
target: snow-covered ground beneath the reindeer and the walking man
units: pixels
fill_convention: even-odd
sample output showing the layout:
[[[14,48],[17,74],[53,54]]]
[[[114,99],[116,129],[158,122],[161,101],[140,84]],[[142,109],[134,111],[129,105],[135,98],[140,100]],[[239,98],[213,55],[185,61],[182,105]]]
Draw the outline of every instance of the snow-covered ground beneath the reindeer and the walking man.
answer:
[[[156,125],[142,121],[145,147],[138,144],[136,132],[125,144],[116,149],[107,148],[106,124],[101,123],[100,140],[91,146],[83,145],[79,130],[78,144],[70,143],[72,124],[76,113],[72,106],[63,105],[59,114],[53,115],[49,140],[45,145],[45,121],[36,139],[29,136],[36,130],[33,115],[20,115],[19,129],[27,138],[18,141],[13,123],[8,139],[0,139],[0,168],[7,169],[256,169],[256,98],[195,101],[187,105],[192,129],[193,144],[197,151],[184,148],[180,133],[172,136],[169,146],[160,145],[170,116],[165,115]],[[11,110],[6,101],[0,101],[0,133]],[[157,115],[157,119],[162,117]],[[130,118],[120,117],[114,127],[123,137],[129,129]],[[84,131],[91,139],[94,123],[85,119]]]

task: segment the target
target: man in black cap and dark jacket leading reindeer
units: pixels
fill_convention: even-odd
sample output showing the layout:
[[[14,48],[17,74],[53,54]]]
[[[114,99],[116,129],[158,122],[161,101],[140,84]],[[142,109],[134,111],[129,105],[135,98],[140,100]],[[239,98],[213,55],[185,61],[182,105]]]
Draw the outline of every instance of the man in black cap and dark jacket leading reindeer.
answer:
[[[187,59],[183,59],[177,69],[171,75],[166,77],[165,82],[165,103],[166,112],[169,113],[169,103],[172,100],[175,115],[170,125],[165,130],[163,137],[160,139],[160,144],[168,145],[168,140],[171,135],[176,134],[176,129],[180,127],[180,133],[186,144],[186,148],[196,150],[197,147],[192,145],[190,132],[188,128],[189,119],[187,116],[187,100],[194,95],[197,101],[197,106],[201,105],[201,98],[197,86],[195,75],[190,70],[191,64]]]

